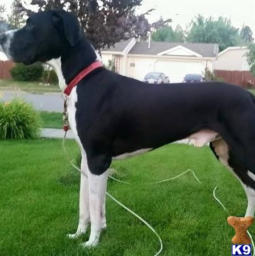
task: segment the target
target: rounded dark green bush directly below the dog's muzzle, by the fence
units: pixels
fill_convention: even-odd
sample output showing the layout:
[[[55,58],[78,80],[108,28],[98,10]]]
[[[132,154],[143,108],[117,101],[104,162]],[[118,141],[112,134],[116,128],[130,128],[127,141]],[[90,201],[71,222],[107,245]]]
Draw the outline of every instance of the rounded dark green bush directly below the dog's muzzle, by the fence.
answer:
[[[37,81],[43,76],[43,67],[40,63],[32,65],[18,63],[10,70],[10,73],[16,81]]]

